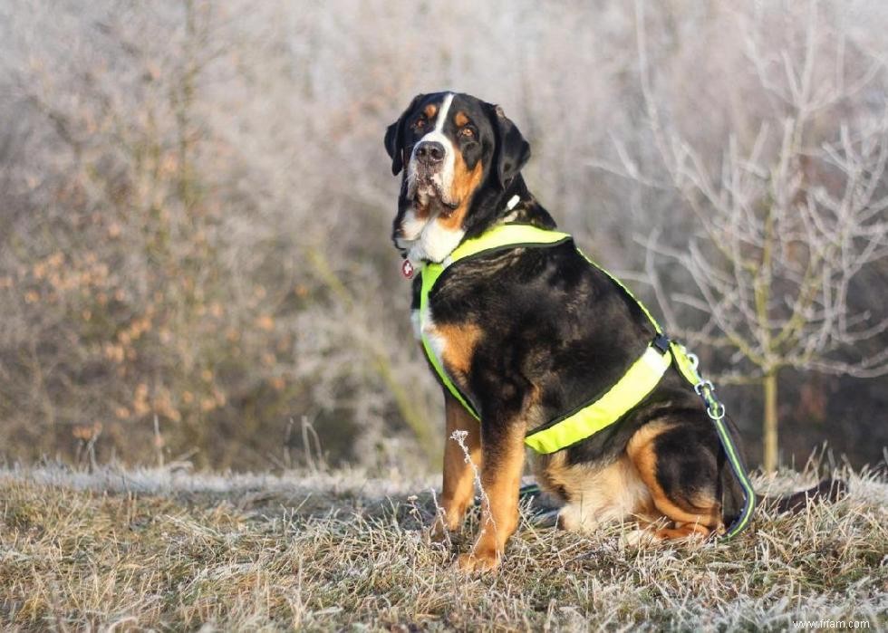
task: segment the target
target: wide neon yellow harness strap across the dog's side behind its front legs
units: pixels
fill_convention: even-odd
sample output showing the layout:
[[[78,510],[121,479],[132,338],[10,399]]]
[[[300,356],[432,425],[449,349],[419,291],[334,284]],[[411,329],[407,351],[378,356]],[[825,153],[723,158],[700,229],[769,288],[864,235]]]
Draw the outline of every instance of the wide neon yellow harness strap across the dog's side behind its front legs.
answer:
[[[555,453],[611,426],[637,406],[660,382],[671,363],[669,350],[648,346],[623,378],[607,393],[574,415],[555,420],[551,426],[526,436],[525,444],[537,453]]]

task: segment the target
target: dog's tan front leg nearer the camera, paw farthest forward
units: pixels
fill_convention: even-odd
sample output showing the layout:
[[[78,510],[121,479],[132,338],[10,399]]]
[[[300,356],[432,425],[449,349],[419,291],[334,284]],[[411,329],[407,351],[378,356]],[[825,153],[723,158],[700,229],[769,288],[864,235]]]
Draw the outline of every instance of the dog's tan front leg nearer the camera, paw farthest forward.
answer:
[[[481,524],[471,553],[458,560],[462,571],[499,565],[506,541],[518,526],[518,488],[524,468],[524,427],[486,425],[481,429]]]

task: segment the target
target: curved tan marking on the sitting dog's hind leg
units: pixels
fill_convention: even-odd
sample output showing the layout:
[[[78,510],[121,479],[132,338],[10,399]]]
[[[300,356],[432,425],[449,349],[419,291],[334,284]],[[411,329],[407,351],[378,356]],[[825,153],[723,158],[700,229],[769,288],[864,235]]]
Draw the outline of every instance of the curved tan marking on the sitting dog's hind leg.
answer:
[[[653,505],[663,516],[677,524],[696,525],[699,530],[695,528],[695,531],[705,530],[708,534],[710,530],[718,528],[721,523],[721,504],[715,499],[704,498],[702,495],[698,495],[694,499],[693,505],[677,502],[666,495],[657,480],[657,455],[654,450],[654,440],[670,427],[671,425],[665,422],[652,422],[645,425],[629,440],[626,453],[632,459],[642,481],[651,491]],[[687,536],[687,529],[676,529],[675,531],[667,529],[660,532],[663,532],[664,535],[681,534],[675,538]],[[664,538],[672,537],[664,536]]]

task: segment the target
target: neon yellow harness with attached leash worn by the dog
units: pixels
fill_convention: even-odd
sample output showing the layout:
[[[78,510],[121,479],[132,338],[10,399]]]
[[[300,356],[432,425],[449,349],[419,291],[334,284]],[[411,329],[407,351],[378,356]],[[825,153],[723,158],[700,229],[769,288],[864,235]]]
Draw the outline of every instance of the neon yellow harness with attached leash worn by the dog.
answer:
[[[449,254],[441,264],[427,262],[422,265],[420,274],[420,332],[422,338],[422,347],[426,352],[431,366],[438,374],[441,383],[446,387],[450,394],[462,404],[468,413],[480,420],[478,411],[469,402],[449,378],[441,361],[435,354],[430,340],[426,335],[426,322],[429,317],[429,295],[435,283],[438,281],[441,273],[447,268],[461,259],[465,259],[471,255],[487,253],[491,251],[522,248],[522,247],[540,247],[554,246],[571,241],[571,235],[561,233],[559,231],[551,231],[539,228],[533,225],[522,224],[506,224],[497,225],[487,230],[482,235],[478,235],[470,240],[466,240]],[[525,437],[525,444],[533,448],[537,453],[549,454],[560,451],[568,446],[572,446],[586,437],[593,436],[603,428],[610,427],[628,413],[632,408],[636,407],[652,390],[660,383],[663,374],[669,369],[672,362],[679,369],[681,375],[687,379],[690,384],[694,385],[695,390],[700,397],[703,398],[707,406],[707,413],[713,420],[719,432],[719,439],[725,449],[725,453],[729,458],[730,465],[737,475],[738,481],[746,494],[746,503],[738,517],[738,520],[731,525],[727,536],[733,536],[744,527],[746,527],[752,511],[755,508],[755,493],[752,484],[749,483],[746,474],[746,468],[739,457],[737,447],[729,436],[727,427],[724,424],[724,407],[715,399],[714,389],[708,380],[700,378],[697,372],[696,357],[689,354],[684,346],[677,342],[670,341],[664,334],[660,324],[653,318],[651,312],[644,307],[642,302],[638,301],[630,290],[623,285],[611,273],[605,271],[601,266],[595,264],[591,259],[577,249],[589,264],[592,264],[598,270],[602,271],[610,277],[614,283],[617,283],[632,300],[636,302],[642,312],[651,321],[656,337],[644,350],[642,355],[632,363],[623,378],[619,379],[612,388],[608,389],[603,396],[596,399],[584,408],[574,411],[563,417],[557,417],[549,423],[536,430],[531,431]]]

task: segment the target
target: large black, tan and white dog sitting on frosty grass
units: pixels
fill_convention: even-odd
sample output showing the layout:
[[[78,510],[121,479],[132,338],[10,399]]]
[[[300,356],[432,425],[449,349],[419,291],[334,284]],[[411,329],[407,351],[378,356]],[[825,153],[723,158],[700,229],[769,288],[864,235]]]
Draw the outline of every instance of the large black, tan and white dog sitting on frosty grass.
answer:
[[[555,221],[521,177],[530,147],[499,107],[467,94],[420,94],[385,134],[403,170],[392,238],[410,262],[441,262],[490,227]],[[581,408],[619,380],[654,335],[639,305],[572,243],[507,248],[449,267],[429,295],[423,332],[480,423],[444,389],[447,435],[464,431],[486,493],[464,570],[497,566],[518,520],[526,433]],[[420,283],[413,283],[419,324]],[[419,328],[419,325],[417,325]],[[734,434],[736,436],[736,432]],[[448,440],[435,537],[460,527],[474,470]],[[661,538],[723,530],[742,504],[700,398],[671,368],[618,423],[551,455],[537,480],[565,506],[559,523],[657,523]],[[665,520],[665,521],[664,521]]]

